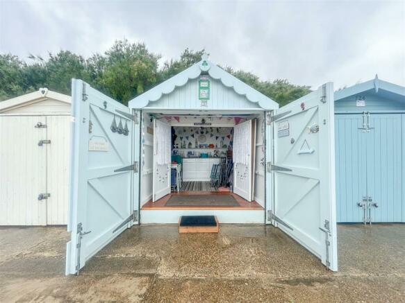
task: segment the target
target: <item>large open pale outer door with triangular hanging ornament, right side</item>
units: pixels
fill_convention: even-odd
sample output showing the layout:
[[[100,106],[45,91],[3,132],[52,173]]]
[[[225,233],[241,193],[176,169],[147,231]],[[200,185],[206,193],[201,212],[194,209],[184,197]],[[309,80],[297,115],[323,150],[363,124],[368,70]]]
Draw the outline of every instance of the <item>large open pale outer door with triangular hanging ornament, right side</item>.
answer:
[[[333,83],[274,112],[274,208],[267,220],[338,270]]]

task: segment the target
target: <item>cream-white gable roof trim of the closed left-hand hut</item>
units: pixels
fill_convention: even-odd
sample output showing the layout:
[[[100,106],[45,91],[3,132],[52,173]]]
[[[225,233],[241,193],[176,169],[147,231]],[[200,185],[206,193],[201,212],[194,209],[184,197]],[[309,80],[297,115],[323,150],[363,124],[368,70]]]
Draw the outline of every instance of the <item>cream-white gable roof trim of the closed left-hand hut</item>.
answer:
[[[10,110],[13,107],[22,107],[24,105],[37,103],[37,102],[40,102],[40,101],[43,101],[46,99],[54,99],[54,100],[61,101],[63,103],[69,103],[69,104],[71,104],[71,102],[72,102],[70,96],[67,96],[65,94],[60,94],[57,92],[52,92],[47,88],[40,88],[36,92],[32,92],[29,94],[11,98],[11,99],[8,99],[5,101],[1,101],[0,102],[0,112],[3,112],[5,110]]]

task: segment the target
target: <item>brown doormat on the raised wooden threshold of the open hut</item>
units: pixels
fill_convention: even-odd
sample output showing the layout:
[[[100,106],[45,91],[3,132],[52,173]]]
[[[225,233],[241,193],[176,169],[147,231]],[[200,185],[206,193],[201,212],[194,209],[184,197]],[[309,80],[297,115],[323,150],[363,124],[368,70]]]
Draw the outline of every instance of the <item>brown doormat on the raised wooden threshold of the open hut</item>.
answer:
[[[232,195],[172,195],[165,206],[239,206]]]

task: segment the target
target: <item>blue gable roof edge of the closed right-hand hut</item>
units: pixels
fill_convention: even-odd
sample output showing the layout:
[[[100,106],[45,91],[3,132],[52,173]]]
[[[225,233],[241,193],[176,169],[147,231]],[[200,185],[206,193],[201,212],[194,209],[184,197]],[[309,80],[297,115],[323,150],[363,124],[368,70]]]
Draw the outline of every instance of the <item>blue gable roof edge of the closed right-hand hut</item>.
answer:
[[[385,96],[393,96],[400,101],[405,101],[405,87],[389,83],[383,80],[379,80],[376,75],[373,80],[366,81],[353,85],[352,87],[347,87],[345,89],[340,89],[335,92],[335,101],[338,101],[349,96],[356,94],[361,94],[363,92],[374,92],[374,94],[381,94]]]

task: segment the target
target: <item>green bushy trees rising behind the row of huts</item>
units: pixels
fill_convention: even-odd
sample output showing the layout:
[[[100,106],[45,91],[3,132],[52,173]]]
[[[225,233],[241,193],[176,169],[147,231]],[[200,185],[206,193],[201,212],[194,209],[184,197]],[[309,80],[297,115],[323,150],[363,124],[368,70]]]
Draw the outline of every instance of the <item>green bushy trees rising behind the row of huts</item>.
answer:
[[[204,49],[185,49],[179,59],[166,61],[160,69],[160,55],[150,52],[142,43],[128,40],[117,40],[106,53],[95,53],[87,59],[70,51],[60,51],[49,53],[47,60],[29,55],[30,61],[26,63],[15,55],[0,54],[0,100],[40,87],[70,94],[71,79],[79,78],[127,104],[134,96],[199,62],[204,53]],[[231,67],[224,69],[280,105],[311,92],[310,87],[292,85],[288,80],[262,81],[254,73],[234,71]]]

